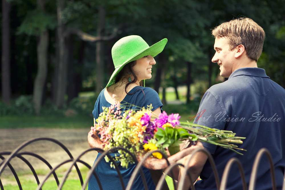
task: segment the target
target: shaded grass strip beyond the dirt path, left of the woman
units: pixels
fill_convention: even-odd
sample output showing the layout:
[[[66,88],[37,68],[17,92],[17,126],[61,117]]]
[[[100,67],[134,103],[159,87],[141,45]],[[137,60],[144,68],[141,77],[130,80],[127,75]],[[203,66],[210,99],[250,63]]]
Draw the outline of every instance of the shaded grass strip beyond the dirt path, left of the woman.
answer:
[[[93,118],[78,115],[64,116],[1,116],[0,129],[7,128],[88,128],[93,126]]]

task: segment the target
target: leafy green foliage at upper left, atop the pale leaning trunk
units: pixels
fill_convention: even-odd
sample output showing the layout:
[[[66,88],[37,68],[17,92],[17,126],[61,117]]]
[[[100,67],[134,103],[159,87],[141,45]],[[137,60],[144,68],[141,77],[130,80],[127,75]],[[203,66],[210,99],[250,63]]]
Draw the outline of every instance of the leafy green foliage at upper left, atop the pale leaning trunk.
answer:
[[[54,29],[57,26],[55,16],[44,13],[40,9],[34,9],[27,14],[18,28],[17,34],[40,35],[46,29]]]

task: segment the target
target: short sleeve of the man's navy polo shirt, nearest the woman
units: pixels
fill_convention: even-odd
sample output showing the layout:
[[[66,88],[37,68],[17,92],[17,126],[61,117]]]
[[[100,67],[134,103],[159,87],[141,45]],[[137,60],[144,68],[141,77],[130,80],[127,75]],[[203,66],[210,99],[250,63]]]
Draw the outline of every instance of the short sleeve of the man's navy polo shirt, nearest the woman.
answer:
[[[226,125],[226,111],[221,102],[217,99],[214,93],[207,90],[204,94],[197,115],[195,116],[194,124],[207,126],[224,130]],[[203,142],[203,146],[214,154],[217,145]]]

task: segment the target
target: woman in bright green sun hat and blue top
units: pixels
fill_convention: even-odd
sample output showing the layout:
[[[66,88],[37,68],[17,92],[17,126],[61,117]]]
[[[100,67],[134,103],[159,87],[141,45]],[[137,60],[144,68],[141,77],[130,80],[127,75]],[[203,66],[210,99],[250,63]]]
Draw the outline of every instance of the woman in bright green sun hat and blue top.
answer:
[[[115,104],[113,96],[117,101],[124,101],[138,107],[146,107],[152,104],[152,111],[155,115],[161,113],[161,107],[159,96],[151,88],[142,87],[142,81],[144,79],[151,78],[151,68],[156,64],[154,56],[162,52],[164,46],[167,43],[167,39],[163,39],[160,42],[152,45],[151,47],[140,36],[127,36],[121,38],[115,43],[112,48],[112,58],[115,66],[107,86],[103,89],[95,103],[93,116],[94,121],[99,117],[99,114],[103,112],[103,107],[110,107]],[[138,107],[130,107],[129,109],[138,109]],[[93,138],[88,138],[88,142],[91,147],[97,147],[92,144]],[[103,148],[103,147],[101,147]],[[101,154],[99,153],[97,158]],[[119,165],[119,164],[118,164]],[[131,177],[135,164],[129,164],[128,168],[123,168],[119,165],[122,177],[125,183],[125,187]],[[150,176],[150,171],[143,168],[144,175],[148,184],[148,189],[155,189],[155,185]],[[117,177],[117,171],[110,167],[110,163],[106,163],[102,160],[98,167],[95,169],[103,189],[121,189],[119,178]],[[95,177],[89,180],[88,189],[99,189]],[[137,180],[133,184],[132,189],[144,189],[141,176],[137,177]]]

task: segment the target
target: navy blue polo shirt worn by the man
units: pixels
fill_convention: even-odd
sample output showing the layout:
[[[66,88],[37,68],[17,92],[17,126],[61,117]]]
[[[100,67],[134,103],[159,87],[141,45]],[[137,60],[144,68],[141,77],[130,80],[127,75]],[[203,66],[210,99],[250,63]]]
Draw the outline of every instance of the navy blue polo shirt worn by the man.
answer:
[[[194,123],[230,130],[236,136],[246,137],[243,144],[237,144],[239,148],[247,150],[237,150],[244,156],[203,143],[213,155],[220,179],[228,160],[236,157],[243,165],[248,185],[255,156],[260,148],[265,147],[273,157],[277,189],[282,188],[285,166],[285,138],[282,137],[285,134],[285,90],[270,80],[264,69],[235,70],[227,81],[213,85],[206,91],[198,113],[200,114],[197,117],[201,118],[195,118]],[[216,189],[209,161],[203,167],[200,177],[202,180],[196,183],[196,189]],[[229,174],[227,189],[242,189],[239,170],[235,164]],[[266,155],[258,167],[255,189],[272,189]]]

